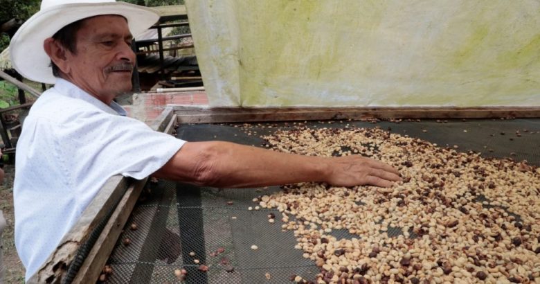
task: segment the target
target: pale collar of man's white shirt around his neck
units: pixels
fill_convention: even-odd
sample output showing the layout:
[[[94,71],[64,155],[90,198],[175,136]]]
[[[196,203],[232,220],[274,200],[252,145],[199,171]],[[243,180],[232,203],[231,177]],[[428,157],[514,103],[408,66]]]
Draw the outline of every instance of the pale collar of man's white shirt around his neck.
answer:
[[[98,98],[92,96],[91,94],[88,94],[86,91],[83,91],[68,80],[56,78],[54,88],[57,89],[57,91],[59,91],[60,94],[64,96],[84,100],[85,102],[90,103],[91,105],[98,107],[102,111],[109,114],[127,116],[126,110],[121,105],[118,105],[118,103],[116,103],[114,100],[111,101],[110,105],[105,105],[105,103],[103,103],[101,100],[98,100]]]

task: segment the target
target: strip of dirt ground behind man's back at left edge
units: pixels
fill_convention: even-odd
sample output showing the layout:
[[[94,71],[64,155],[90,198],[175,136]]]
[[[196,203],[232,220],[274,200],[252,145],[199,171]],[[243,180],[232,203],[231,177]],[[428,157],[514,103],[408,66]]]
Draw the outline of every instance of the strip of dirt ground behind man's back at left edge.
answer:
[[[3,231],[3,265],[6,273],[3,283],[24,283],[24,267],[15,250],[15,239],[13,238],[13,179],[15,177],[15,166],[6,164],[3,167],[6,177],[0,186],[0,210],[6,218],[8,226]],[[0,279],[0,283],[2,283]]]

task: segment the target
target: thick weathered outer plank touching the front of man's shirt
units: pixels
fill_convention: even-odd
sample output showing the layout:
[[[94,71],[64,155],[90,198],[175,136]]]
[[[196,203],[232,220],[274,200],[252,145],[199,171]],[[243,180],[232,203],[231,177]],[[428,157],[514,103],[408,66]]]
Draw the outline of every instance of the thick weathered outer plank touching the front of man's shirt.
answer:
[[[75,226],[62,238],[60,245],[47,258],[44,265],[30,277],[28,283],[59,282],[64,277],[66,267],[69,267],[80,245],[88,240],[91,231],[116,205],[126,189],[127,179],[120,175],[109,178],[89,206],[84,209]]]

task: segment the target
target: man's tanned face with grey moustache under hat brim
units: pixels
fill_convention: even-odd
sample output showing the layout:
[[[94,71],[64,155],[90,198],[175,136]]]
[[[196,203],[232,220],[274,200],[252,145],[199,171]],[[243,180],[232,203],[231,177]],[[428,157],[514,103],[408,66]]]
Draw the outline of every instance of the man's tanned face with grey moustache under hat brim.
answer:
[[[135,54],[125,18],[116,15],[84,20],[77,52],[67,53],[68,80],[105,103],[132,89]]]

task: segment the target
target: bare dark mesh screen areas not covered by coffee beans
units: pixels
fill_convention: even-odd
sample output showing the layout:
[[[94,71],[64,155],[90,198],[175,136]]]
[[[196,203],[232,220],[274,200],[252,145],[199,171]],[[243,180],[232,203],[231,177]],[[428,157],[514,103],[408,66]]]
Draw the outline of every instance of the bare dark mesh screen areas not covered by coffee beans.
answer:
[[[178,137],[187,141],[232,141],[261,146],[260,136],[297,127],[299,123],[238,125],[181,125]],[[526,159],[540,166],[540,120],[403,121],[401,123],[332,121],[300,123],[308,127],[381,127],[397,134],[458,145],[461,151],[482,152],[485,157]],[[519,135],[518,135],[519,134]],[[294,249],[292,231],[280,222],[269,224],[267,215],[277,210],[255,210],[254,197],[279,187],[249,189],[198,188],[160,181],[138,202],[108,264],[108,283],[178,283],[175,269],[188,272],[184,283],[290,283],[299,275],[313,280],[320,269],[303,251]],[[479,198],[477,202],[482,202]],[[249,210],[249,207],[253,210]],[[276,218],[278,220],[279,218]],[[136,230],[130,229],[135,223]],[[388,236],[402,233],[388,228]],[[361,238],[347,230],[334,230],[336,238]],[[130,240],[124,245],[124,240]],[[415,234],[411,231],[411,238]],[[255,245],[258,249],[252,249]],[[195,252],[195,256],[190,255]],[[199,264],[195,263],[199,260]],[[199,265],[209,267],[199,271]],[[233,269],[233,271],[231,271]]]

